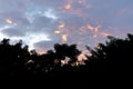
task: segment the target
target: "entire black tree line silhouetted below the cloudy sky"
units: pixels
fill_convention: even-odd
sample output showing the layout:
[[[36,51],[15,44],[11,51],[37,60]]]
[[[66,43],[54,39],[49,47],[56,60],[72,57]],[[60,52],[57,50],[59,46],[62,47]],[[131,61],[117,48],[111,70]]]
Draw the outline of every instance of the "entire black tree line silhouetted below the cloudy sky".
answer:
[[[23,46],[22,40],[10,44],[10,39],[0,41],[0,79],[83,79],[90,73],[132,72],[133,34],[126,38],[108,37],[105,43],[91,48],[85,46],[91,56],[82,53],[76,44],[55,43],[54,50],[39,55]],[[83,63],[80,63],[83,62]]]

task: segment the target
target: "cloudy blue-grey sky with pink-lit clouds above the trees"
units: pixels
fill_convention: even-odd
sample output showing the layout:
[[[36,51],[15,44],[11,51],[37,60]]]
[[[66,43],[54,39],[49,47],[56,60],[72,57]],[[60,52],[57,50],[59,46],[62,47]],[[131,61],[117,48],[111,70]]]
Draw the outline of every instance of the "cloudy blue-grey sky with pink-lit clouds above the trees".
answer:
[[[0,40],[44,52],[54,43],[95,47],[133,33],[133,0],[0,0]]]

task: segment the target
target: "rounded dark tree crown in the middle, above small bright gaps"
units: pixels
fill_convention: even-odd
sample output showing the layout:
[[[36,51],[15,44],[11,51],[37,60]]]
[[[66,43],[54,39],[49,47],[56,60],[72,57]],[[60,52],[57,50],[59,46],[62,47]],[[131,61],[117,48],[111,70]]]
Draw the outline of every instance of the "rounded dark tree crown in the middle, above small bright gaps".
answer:
[[[65,57],[70,58],[70,63],[73,63],[78,60],[78,56],[81,53],[79,49],[76,49],[76,44],[68,46],[66,43],[63,44],[54,44],[55,50],[55,58],[59,60],[64,60]]]

